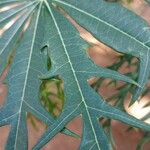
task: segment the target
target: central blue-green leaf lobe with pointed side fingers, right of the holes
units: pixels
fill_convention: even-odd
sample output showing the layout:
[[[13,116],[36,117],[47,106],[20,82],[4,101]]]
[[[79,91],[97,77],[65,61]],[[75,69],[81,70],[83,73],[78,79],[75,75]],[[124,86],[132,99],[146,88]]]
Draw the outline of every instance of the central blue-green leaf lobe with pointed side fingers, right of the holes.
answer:
[[[33,149],[37,150],[44,146],[77,115],[82,115],[84,122],[80,149],[111,149],[107,136],[99,125],[101,117],[117,119],[149,130],[149,125],[108,105],[89,86],[87,80],[93,76],[120,80],[122,77],[117,72],[96,66],[86,55],[87,44],[80,39],[76,29],[51,5],[47,2],[45,4],[49,11],[46,12],[45,18],[47,36],[50,37],[47,43],[50,49],[52,68],[44,78],[59,75],[64,80],[65,106],[60,117],[47,129]]]

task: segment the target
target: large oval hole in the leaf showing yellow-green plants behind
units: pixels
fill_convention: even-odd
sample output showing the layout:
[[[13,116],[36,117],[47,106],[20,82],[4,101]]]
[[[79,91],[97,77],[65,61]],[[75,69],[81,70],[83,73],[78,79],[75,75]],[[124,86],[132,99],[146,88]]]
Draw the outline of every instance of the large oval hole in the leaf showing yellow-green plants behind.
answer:
[[[59,78],[43,80],[40,86],[42,105],[55,118],[60,115],[64,105],[63,82]]]

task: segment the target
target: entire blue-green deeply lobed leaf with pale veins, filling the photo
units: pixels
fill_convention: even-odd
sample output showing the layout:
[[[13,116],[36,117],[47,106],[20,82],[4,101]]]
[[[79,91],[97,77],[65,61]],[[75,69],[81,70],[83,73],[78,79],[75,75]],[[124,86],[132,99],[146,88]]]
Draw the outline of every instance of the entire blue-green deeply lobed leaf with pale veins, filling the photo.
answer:
[[[99,124],[101,117],[150,130],[148,124],[108,105],[90,87],[87,80],[91,77],[113,78],[132,84],[135,82],[116,71],[95,65],[86,54],[88,43],[80,38],[77,30],[53,6],[62,7],[80,25],[110,47],[140,59],[138,84],[142,88],[137,88],[134,99],[139,97],[149,77],[150,32],[145,30],[149,26],[142,19],[118,4],[108,4],[102,0],[93,0],[92,3],[90,0],[0,0],[0,7],[12,4],[15,5],[11,9],[0,12],[0,28],[15,19],[0,38],[1,72],[12,47],[16,50],[7,77],[7,101],[0,109],[0,126],[11,125],[6,149],[28,148],[27,112],[48,124],[47,131],[33,148],[35,150],[43,147],[78,115],[82,115],[84,122],[80,145],[83,150],[111,149]],[[118,16],[115,10],[120,12]],[[135,22],[137,26],[133,28]],[[52,63],[50,71],[46,69],[47,54],[41,52],[45,45],[48,46]],[[55,76],[63,79],[65,92],[65,106],[56,120],[42,107],[38,94],[40,78]]]

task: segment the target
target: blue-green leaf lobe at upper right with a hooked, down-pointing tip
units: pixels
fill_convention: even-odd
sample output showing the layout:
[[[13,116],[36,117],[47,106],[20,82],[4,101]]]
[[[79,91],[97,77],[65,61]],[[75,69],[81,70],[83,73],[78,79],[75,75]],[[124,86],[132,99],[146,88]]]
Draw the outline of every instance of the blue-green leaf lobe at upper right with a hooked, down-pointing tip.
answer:
[[[90,0],[54,1],[97,39],[140,59],[138,83],[141,87],[133,95],[134,101],[138,99],[150,76],[149,24],[118,3],[104,0],[93,0],[92,3]]]

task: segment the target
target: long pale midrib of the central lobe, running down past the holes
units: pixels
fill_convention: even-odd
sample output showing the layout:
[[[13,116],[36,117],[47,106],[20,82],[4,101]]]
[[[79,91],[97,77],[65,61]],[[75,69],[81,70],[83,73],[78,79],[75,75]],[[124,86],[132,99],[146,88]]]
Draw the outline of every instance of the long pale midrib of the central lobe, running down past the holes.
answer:
[[[84,98],[84,96],[83,96],[83,93],[82,93],[80,84],[79,84],[79,82],[78,82],[78,79],[77,79],[77,76],[76,76],[74,67],[73,67],[73,65],[72,65],[72,63],[71,63],[70,56],[69,56],[69,54],[68,54],[68,52],[67,52],[67,49],[66,49],[64,40],[63,40],[63,38],[62,38],[61,31],[60,31],[60,29],[59,29],[59,27],[58,27],[58,25],[57,25],[57,22],[56,22],[56,20],[55,20],[55,17],[54,17],[54,15],[53,15],[52,10],[51,10],[49,4],[47,3],[47,1],[45,1],[45,4],[46,4],[46,6],[47,6],[47,8],[48,8],[48,10],[49,10],[49,12],[50,12],[50,14],[51,14],[51,16],[52,16],[52,19],[53,19],[53,21],[54,21],[55,27],[56,27],[56,29],[57,29],[57,31],[58,31],[58,35],[59,35],[59,37],[60,37],[60,39],[61,39],[61,42],[62,42],[62,45],[63,45],[63,48],[64,48],[64,52],[65,52],[65,54],[66,54],[66,56],[67,56],[68,62],[69,62],[69,64],[70,64],[70,68],[71,68],[71,70],[72,70],[74,79],[75,79],[75,81],[76,81],[76,84],[77,84],[77,86],[78,86],[79,93],[80,93],[81,98],[82,98],[81,101],[83,102],[83,104],[84,104],[84,106],[85,106],[85,109],[86,109],[86,111],[87,111],[87,115],[88,115],[88,118],[89,118],[89,121],[90,121],[92,130],[93,130],[93,134],[94,134],[94,138],[95,138],[97,147],[98,147],[98,149],[100,150],[100,145],[99,145],[99,143],[98,143],[98,138],[97,138],[97,135],[96,135],[96,132],[95,132],[95,129],[94,129],[92,120],[91,120],[91,116],[90,116],[90,113],[89,113],[89,111],[88,111],[88,107],[87,107],[87,104],[86,104],[86,102],[85,102],[85,98]]]

